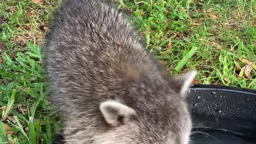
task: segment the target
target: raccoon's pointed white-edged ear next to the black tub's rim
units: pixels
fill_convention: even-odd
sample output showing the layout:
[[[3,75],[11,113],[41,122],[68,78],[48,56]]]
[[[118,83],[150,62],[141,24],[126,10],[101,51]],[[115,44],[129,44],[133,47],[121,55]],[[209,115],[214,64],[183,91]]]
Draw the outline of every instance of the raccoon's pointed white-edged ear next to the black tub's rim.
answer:
[[[186,96],[186,92],[187,92],[190,84],[196,77],[196,74],[197,74],[196,71],[191,70],[184,75],[174,76],[172,80],[173,80],[173,84],[175,86],[175,90],[177,92],[180,92],[180,94],[182,94],[182,96]]]

